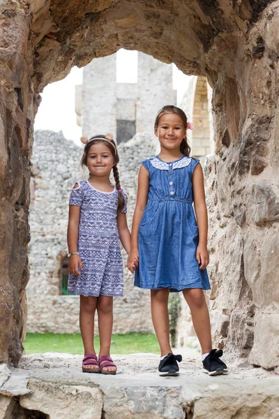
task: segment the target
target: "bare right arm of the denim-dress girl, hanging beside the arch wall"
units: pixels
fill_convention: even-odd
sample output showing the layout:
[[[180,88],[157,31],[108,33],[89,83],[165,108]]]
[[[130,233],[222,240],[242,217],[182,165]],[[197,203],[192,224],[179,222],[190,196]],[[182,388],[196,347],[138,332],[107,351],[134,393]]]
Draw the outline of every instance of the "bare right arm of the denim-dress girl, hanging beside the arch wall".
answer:
[[[197,262],[202,263],[199,267],[202,270],[209,264],[209,252],[207,251],[208,219],[204,194],[204,175],[200,164],[197,164],[193,172],[193,197],[199,228],[199,244],[196,257]]]

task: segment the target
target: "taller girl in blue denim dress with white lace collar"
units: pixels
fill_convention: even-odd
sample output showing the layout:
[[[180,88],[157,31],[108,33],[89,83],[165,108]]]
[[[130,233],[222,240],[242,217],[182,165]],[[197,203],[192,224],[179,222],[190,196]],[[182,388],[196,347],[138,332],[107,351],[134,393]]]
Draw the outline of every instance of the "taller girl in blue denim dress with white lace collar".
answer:
[[[220,360],[222,351],[212,349],[204,298],[204,290],[210,289],[204,177],[199,160],[189,156],[187,128],[193,126],[183,110],[167,105],[158,112],[154,132],[160,153],[140,166],[127,265],[135,271],[135,286],[151,290],[151,314],[161,351],[159,372],[170,376],[179,372],[177,361],[182,357],[170,347],[167,303],[169,292],[182,291],[202,347],[203,371],[218,375],[227,373],[227,367]]]

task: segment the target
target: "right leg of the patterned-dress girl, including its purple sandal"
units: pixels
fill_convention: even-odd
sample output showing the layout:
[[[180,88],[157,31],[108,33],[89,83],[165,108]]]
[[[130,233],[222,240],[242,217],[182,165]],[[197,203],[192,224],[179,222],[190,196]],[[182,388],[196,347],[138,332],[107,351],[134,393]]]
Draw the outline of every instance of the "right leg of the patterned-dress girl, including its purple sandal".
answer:
[[[110,345],[112,343],[113,297],[99,295],[97,300],[97,311],[100,335],[100,357],[103,355],[110,355]],[[102,362],[100,365],[102,365]],[[104,367],[103,370],[116,371],[116,367]]]

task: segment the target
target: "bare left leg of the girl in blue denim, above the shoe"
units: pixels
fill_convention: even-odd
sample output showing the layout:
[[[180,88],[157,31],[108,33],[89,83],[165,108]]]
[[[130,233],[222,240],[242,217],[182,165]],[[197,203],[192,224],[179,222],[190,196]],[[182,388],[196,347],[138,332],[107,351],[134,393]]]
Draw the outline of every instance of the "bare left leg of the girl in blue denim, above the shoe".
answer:
[[[153,326],[160,345],[161,356],[172,353],[169,342],[169,288],[151,290],[151,315]]]

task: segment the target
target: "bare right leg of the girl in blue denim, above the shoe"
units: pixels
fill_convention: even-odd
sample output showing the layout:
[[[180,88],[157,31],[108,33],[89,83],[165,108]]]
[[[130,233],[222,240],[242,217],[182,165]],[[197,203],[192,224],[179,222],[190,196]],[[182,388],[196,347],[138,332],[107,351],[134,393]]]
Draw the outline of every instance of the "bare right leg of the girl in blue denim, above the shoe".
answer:
[[[193,325],[202,348],[202,354],[212,349],[209,309],[202,288],[185,288],[183,296],[190,307]]]

